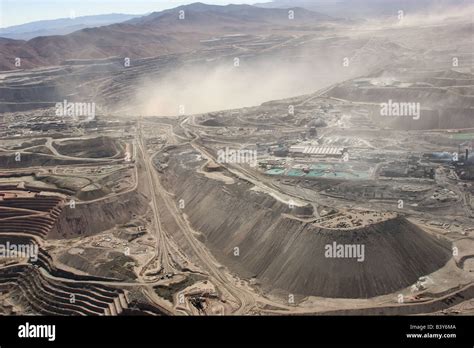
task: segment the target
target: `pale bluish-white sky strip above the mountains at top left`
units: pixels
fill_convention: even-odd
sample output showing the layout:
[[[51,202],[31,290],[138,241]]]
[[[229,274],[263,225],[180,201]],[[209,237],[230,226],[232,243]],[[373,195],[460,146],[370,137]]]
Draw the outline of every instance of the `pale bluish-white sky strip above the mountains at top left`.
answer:
[[[269,1],[269,0],[268,0]],[[193,2],[253,4],[266,0],[0,0],[0,28],[43,19],[107,13],[144,14]]]

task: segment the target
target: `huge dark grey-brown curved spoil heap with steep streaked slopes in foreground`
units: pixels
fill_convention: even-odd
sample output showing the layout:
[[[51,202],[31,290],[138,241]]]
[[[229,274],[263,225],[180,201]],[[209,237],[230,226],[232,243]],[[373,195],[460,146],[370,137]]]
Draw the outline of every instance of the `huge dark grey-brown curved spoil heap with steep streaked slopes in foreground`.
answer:
[[[356,229],[322,228],[288,217],[287,205],[250,191],[250,184],[224,189],[190,165],[170,161],[167,189],[184,199],[189,221],[216,258],[240,276],[256,277],[267,291],[369,298],[405,288],[451,257],[449,243],[402,217]],[[334,243],[363,246],[363,258],[328,257]]]

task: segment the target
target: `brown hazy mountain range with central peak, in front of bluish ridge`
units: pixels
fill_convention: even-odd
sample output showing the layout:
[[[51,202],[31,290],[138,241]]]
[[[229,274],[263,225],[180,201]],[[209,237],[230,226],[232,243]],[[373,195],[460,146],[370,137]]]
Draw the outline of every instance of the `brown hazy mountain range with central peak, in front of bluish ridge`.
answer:
[[[182,13],[184,19],[180,19]],[[289,20],[288,9],[195,3],[67,35],[41,36],[29,41],[0,38],[0,70],[18,68],[15,58],[21,58],[21,68],[31,68],[70,59],[182,53],[203,47],[201,40],[214,35],[274,33],[276,27],[314,26],[332,20],[302,8],[295,8],[294,15],[295,19]]]

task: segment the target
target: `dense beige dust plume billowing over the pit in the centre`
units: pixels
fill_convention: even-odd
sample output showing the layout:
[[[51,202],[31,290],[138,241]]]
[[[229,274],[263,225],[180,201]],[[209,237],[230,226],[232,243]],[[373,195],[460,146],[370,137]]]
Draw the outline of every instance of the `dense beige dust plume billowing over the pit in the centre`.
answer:
[[[331,71],[331,74],[328,72]],[[337,73],[339,71],[339,73]],[[144,80],[134,108],[144,116],[198,114],[313,93],[349,76],[340,60],[205,63]]]

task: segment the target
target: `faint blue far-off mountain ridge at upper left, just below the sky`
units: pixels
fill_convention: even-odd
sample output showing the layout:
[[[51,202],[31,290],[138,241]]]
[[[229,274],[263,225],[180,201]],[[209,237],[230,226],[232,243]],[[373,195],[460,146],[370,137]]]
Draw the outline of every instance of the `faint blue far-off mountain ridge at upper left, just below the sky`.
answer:
[[[125,22],[140,17],[128,14],[105,14],[76,18],[60,18],[36,21],[0,29],[0,37],[15,40],[30,40],[38,36],[66,35],[74,31]]]

